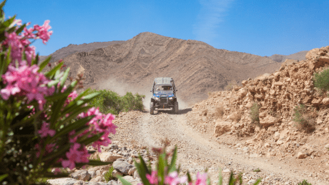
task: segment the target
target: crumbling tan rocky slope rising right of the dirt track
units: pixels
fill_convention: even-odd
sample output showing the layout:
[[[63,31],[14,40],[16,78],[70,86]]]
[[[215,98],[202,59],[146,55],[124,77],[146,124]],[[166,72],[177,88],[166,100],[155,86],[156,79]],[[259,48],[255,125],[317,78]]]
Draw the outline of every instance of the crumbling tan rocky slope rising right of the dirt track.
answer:
[[[312,49],[306,60],[284,62],[276,73],[243,80],[242,86],[230,91],[211,93],[188,112],[190,124],[243,153],[307,163],[328,179],[329,98],[319,95],[312,79],[328,66],[329,46]],[[254,103],[259,107],[258,123],[250,118]],[[294,110],[301,104],[306,107],[303,115],[309,127],[293,121]]]

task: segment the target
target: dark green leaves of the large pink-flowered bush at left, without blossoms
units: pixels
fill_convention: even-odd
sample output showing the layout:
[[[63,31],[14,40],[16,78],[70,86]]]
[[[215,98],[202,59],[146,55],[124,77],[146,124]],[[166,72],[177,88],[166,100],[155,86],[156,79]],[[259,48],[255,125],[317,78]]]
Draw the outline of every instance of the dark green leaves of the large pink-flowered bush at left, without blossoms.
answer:
[[[5,32],[21,34],[25,24],[15,26],[15,16],[5,19],[3,5],[0,4],[0,43],[5,40]],[[10,48],[1,45],[0,52],[0,90],[5,88],[1,76],[7,71],[12,62]],[[26,56],[23,55],[23,60]],[[47,66],[50,58],[42,62],[40,70]],[[32,59],[32,64],[38,65],[38,57]],[[26,101],[26,97],[10,96],[5,100],[0,97],[0,182],[1,184],[45,184],[45,180],[56,177],[67,177],[69,173],[51,173],[50,169],[62,167],[58,162],[69,151],[72,143],[69,142],[69,133],[75,130],[75,135],[88,130],[86,123],[93,119],[87,116],[84,119],[75,120],[78,114],[86,112],[92,106],[86,103],[93,101],[98,93],[89,93],[88,90],[80,94],[74,101],[66,103],[68,96],[75,90],[77,82],[63,90],[69,69],[60,71],[62,63],[45,73],[51,82],[47,86],[55,86],[55,93],[45,97],[44,110],[40,110],[38,101]],[[58,82],[60,85],[57,86]],[[63,90],[63,93],[61,92]],[[82,98],[84,97],[84,98]],[[40,138],[38,130],[42,123],[47,121],[49,129],[55,130],[53,137]],[[98,140],[103,133],[86,133],[86,137],[78,138],[77,143],[88,145]],[[91,135],[89,138],[88,136]],[[46,146],[54,145],[53,150],[47,153]],[[36,149],[36,146],[39,146]],[[60,147],[58,147],[60,146]],[[39,156],[39,157],[36,157]],[[76,167],[84,165],[104,165],[108,162],[90,160],[88,163],[76,164]]]

